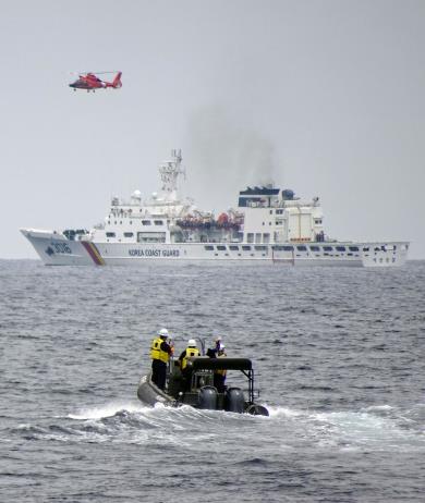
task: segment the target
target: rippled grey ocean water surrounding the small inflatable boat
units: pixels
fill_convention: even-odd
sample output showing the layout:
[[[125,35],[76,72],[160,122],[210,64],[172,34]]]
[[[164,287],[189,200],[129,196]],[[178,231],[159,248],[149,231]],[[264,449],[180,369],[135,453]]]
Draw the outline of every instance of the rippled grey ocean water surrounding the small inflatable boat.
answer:
[[[0,286],[1,502],[425,500],[425,262],[3,260]],[[162,327],[251,357],[270,417],[139,403]]]

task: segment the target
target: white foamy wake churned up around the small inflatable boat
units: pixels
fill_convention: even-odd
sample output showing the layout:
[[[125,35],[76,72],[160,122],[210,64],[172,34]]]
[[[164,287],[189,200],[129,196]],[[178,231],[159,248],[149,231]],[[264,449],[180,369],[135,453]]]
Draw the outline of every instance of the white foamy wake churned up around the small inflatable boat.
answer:
[[[25,440],[58,442],[119,442],[163,449],[208,450],[244,442],[276,453],[294,449],[338,451],[425,451],[425,404],[401,412],[382,405],[356,412],[317,412],[268,406],[270,416],[199,410],[137,401],[111,402],[38,425],[20,425],[12,433]],[[267,421],[267,427],[265,422]]]

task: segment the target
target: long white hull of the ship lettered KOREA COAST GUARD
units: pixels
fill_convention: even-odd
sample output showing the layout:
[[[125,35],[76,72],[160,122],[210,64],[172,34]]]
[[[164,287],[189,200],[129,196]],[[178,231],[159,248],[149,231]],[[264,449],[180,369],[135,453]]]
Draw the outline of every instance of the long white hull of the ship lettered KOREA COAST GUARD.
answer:
[[[101,243],[68,240],[53,231],[22,229],[47,266],[137,266],[157,262],[260,262],[289,266],[397,267],[404,265],[405,242]],[[312,249],[313,248],[313,249]]]

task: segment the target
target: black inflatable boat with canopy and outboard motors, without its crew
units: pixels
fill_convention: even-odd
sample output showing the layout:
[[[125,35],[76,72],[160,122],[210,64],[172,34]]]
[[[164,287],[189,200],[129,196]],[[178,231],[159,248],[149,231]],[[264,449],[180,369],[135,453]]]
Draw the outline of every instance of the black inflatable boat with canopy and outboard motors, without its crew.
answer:
[[[215,387],[215,375],[223,371],[227,375],[239,371],[247,388]],[[144,404],[151,406],[162,403],[173,407],[191,405],[207,410],[269,415],[266,407],[254,402],[258,393],[254,389],[254,369],[248,358],[191,357],[187,358],[184,373],[172,358],[169,361],[165,391],[151,381],[151,373],[148,373],[138,383],[137,396]]]

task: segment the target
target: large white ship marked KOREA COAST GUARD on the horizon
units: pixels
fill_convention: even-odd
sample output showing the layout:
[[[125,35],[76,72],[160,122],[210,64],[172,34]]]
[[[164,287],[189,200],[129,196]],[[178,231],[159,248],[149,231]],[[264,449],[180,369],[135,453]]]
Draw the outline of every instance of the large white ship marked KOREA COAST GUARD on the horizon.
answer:
[[[135,191],[118,197],[105,222],[90,231],[21,229],[48,266],[137,265],[155,261],[232,261],[292,266],[394,267],[408,242],[330,240],[318,197],[311,201],[271,185],[239,193],[238,207],[217,217],[178,193],[181,151],[159,165],[161,189],[147,200]]]

